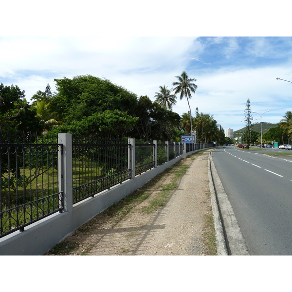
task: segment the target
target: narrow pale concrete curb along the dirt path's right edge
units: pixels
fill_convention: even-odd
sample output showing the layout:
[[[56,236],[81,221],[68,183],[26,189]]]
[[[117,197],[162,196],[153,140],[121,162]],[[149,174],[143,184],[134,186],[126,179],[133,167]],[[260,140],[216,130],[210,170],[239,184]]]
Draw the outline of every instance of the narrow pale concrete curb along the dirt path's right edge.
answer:
[[[209,187],[211,192],[211,204],[212,204],[212,212],[214,217],[214,227],[216,232],[216,241],[217,241],[217,254],[218,256],[228,256],[227,245],[225,241],[223,226],[220,218],[218,203],[216,199],[214,184],[213,184],[213,177],[211,173],[211,153],[209,153],[209,161],[208,161],[208,176],[209,176]]]

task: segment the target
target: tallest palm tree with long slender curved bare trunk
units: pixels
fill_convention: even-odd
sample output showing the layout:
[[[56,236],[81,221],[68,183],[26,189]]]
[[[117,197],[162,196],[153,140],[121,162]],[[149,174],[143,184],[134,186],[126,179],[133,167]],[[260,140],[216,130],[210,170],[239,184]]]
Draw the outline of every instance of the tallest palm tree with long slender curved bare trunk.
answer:
[[[192,137],[192,143],[193,143],[193,122],[192,122],[192,111],[189,103],[189,98],[192,97],[191,92],[196,93],[197,85],[195,83],[192,83],[194,81],[197,81],[195,78],[189,78],[187,73],[183,71],[181,76],[175,76],[179,79],[179,82],[173,82],[172,85],[176,86],[173,91],[174,94],[180,93],[180,100],[183,99],[183,97],[186,97],[189,109],[190,109],[190,122],[191,122],[191,137]]]

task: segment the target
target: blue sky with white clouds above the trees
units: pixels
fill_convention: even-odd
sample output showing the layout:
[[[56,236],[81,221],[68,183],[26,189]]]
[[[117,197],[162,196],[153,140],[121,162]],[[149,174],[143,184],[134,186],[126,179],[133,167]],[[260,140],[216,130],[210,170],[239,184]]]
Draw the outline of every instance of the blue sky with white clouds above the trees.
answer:
[[[292,37],[0,37],[0,82],[27,100],[54,79],[91,74],[154,99],[186,71],[198,86],[190,105],[224,128],[245,126],[247,99],[263,122],[292,110]],[[187,101],[173,109],[182,115]],[[253,115],[259,122],[259,116]]]

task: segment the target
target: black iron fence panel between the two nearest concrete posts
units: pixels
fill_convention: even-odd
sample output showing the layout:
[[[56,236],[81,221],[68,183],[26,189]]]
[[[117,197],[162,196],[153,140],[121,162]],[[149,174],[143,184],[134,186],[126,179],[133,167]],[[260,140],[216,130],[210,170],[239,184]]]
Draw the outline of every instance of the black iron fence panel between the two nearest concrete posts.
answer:
[[[130,179],[129,145],[73,137],[73,204]]]

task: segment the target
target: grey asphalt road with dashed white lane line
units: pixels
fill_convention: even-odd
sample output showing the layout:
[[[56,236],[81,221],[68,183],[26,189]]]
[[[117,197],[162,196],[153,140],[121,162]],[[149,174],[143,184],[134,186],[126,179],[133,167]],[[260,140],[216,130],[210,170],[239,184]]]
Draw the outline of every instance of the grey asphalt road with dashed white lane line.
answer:
[[[250,255],[292,255],[292,162],[262,153],[291,150],[212,152]]]

